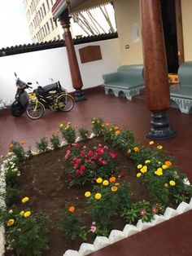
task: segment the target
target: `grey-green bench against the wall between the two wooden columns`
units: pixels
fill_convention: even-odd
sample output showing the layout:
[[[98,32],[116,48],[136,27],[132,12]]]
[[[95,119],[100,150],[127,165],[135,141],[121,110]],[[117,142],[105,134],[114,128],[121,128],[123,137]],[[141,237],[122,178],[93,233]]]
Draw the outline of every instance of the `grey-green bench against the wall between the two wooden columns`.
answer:
[[[116,73],[103,74],[105,94],[131,100],[144,87],[143,65],[124,65]]]

